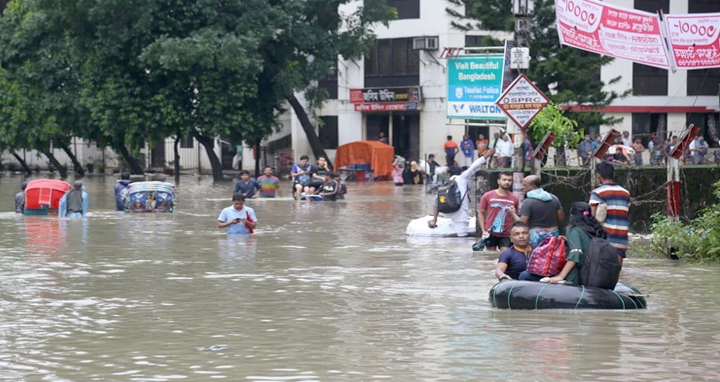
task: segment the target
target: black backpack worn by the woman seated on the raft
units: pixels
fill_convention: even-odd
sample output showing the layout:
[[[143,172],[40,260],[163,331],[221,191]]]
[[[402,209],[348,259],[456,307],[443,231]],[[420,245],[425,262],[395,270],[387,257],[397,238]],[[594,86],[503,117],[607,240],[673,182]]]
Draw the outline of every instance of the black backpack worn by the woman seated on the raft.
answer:
[[[589,287],[615,289],[621,269],[617,249],[607,240],[593,236],[580,270],[580,283]]]

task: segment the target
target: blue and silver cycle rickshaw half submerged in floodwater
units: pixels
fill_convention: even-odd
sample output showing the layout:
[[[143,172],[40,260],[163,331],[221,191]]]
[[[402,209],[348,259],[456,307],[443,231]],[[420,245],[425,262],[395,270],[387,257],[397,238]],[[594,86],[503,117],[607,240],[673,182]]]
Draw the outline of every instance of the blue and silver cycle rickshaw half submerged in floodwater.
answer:
[[[168,182],[133,182],[125,197],[128,212],[173,212],[175,185]]]

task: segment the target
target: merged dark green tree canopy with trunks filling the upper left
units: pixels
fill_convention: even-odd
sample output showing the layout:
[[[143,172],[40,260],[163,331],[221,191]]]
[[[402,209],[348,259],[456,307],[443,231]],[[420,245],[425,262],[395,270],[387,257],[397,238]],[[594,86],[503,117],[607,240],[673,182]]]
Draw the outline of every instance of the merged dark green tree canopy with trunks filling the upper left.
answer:
[[[50,153],[78,136],[108,145],[133,172],[139,150],[195,137],[216,179],[215,139],[262,140],[289,103],[316,155],[317,82],[359,57],[385,0],[14,0],[0,19],[2,148]],[[43,151],[44,150],[44,151]],[[66,150],[69,151],[69,150]],[[51,159],[52,161],[52,159]]]

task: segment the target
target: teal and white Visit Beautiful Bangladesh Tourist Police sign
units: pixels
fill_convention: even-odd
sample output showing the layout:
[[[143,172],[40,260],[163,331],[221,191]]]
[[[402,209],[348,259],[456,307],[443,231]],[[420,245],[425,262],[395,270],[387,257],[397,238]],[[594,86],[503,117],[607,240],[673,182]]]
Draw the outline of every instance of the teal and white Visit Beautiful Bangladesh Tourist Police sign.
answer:
[[[502,93],[504,62],[502,53],[449,59],[447,117],[505,119],[495,104]]]

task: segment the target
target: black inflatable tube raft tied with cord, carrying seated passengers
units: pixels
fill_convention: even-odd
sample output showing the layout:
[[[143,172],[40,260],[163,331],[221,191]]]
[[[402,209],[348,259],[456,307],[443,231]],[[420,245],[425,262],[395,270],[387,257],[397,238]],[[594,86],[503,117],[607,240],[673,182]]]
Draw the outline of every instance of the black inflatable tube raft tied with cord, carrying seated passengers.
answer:
[[[618,283],[615,290],[574,284],[504,280],[490,289],[490,304],[500,309],[645,309],[637,289]]]

